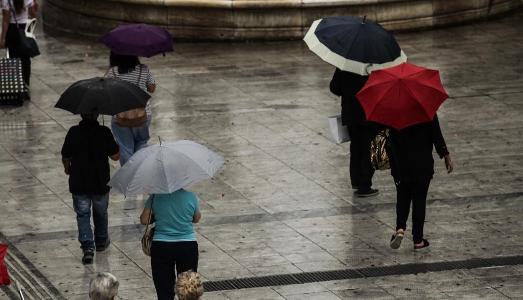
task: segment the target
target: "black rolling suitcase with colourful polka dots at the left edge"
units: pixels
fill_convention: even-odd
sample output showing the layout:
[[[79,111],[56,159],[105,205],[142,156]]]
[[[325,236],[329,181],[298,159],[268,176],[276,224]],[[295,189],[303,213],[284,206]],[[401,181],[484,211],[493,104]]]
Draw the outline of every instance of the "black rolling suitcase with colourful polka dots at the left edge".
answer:
[[[0,59],[0,105],[24,104],[24,76],[19,58]]]

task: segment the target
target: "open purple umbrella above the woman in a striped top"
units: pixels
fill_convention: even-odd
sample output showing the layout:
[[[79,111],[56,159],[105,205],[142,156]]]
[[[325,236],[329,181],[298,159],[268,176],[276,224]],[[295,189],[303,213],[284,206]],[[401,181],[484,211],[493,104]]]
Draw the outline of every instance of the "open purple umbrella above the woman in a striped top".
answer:
[[[100,39],[112,52],[123,55],[152,57],[172,52],[173,36],[165,29],[147,24],[118,25]]]

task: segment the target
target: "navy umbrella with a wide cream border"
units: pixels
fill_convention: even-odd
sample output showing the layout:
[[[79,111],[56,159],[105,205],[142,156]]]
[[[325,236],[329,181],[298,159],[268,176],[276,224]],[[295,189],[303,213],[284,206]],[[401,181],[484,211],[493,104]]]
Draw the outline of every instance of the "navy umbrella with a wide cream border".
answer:
[[[303,40],[324,61],[360,75],[407,61],[392,34],[366,18],[338,16],[316,20]]]

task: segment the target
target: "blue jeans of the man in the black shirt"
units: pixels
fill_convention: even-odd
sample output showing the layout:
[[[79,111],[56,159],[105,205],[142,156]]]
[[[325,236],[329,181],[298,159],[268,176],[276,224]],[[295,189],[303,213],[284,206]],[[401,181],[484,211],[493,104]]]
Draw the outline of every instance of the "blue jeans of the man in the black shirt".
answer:
[[[93,221],[95,235],[91,229],[91,205],[93,205]],[[103,195],[73,194],[73,207],[78,223],[78,241],[82,249],[95,249],[96,243],[104,243],[109,237],[107,225],[107,207],[109,206],[109,192]]]

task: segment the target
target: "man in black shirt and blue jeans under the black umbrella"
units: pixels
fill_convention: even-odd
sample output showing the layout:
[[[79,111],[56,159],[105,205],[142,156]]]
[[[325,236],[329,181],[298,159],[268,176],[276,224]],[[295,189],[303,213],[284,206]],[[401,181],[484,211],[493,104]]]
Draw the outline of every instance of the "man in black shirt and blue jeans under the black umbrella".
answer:
[[[110,244],[107,232],[110,180],[109,157],[120,158],[111,130],[100,126],[98,115],[82,115],[82,121],[67,131],[62,147],[62,163],[69,175],[69,191],[78,223],[78,241],[83,250],[82,261],[93,261],[94,249],[104,251]],[[91,206],[95,225],[91,230]]]

